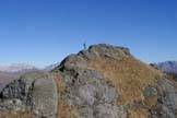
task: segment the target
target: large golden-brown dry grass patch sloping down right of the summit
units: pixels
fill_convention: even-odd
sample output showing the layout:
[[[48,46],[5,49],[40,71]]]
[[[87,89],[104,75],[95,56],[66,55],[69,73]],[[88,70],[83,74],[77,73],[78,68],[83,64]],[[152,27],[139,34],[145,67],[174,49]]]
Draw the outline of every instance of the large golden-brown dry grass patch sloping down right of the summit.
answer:
[[[146,107],[156,105],[156,98],[144,98],[143,91],[149,85],[156,87],[157,79],[163,75],[158,70],[130,57],[121,60],[97,58],[88,62],[88,68],[102,72],[117,87],[119,105],[133,105],[135,102],[148,103]],[[149,115],[145,109],[130,113],[129,118],[148,118]]]

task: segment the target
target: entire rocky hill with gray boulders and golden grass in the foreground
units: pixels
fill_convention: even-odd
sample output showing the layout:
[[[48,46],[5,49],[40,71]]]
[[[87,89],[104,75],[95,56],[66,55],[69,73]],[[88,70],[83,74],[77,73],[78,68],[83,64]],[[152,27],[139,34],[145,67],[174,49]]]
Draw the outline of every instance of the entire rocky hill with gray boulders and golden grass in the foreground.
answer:
[[[125,47],[98,44],[0,91],[2,118],[176,118],[177,82]]]

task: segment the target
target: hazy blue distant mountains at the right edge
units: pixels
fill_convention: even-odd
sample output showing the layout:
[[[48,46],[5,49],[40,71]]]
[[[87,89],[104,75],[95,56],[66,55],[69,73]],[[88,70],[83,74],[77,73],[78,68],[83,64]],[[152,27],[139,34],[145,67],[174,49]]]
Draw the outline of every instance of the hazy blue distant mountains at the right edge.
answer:
[[[163,72],[177,74],[177,61],[165,61],[156,63],[155,66]]]

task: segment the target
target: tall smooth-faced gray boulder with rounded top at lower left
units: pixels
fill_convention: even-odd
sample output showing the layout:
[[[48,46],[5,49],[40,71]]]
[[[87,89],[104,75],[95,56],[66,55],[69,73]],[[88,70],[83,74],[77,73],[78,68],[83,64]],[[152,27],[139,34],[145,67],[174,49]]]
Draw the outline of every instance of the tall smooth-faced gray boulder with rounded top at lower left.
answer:
[[[37,79],[32,93],[32,110],[37,116],[56,118],[58,105],[57,86],[52,79]]]

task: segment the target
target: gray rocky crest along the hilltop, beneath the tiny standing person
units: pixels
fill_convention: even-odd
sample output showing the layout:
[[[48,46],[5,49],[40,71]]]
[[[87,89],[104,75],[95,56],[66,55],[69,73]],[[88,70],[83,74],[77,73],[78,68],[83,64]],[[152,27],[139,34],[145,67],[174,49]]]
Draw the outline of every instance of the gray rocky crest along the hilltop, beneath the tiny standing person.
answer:
[[[87,68],[87,60],[99,58],[111,58],[120,60],[122,57],[131,57],[128,48],[115,47],[106,44],[91,46],[87,50],[81,50],[78,55],[68,56],[56,70],[71,70],[73,68]]]

